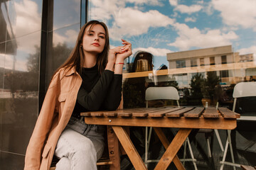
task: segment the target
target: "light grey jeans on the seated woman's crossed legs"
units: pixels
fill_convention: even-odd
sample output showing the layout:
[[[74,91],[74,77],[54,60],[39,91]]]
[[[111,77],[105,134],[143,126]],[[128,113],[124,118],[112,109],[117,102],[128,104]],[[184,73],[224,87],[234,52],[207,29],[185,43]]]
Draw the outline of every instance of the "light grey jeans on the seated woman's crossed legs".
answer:
[[[54,154],[60,158],[56,170],[97,170],[105,147],[104,128],[71,117],[56,145]]]

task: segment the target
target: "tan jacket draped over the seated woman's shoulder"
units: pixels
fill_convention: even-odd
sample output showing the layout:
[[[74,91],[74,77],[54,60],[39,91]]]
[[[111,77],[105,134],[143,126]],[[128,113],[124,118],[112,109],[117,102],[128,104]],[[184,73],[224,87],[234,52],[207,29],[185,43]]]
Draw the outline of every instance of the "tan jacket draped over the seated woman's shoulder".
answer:
[[[73,113],[82,78],[75,72],[60,69],[50,82],[41,112],[28,144],[25,170],[48,170],[56,144]]]

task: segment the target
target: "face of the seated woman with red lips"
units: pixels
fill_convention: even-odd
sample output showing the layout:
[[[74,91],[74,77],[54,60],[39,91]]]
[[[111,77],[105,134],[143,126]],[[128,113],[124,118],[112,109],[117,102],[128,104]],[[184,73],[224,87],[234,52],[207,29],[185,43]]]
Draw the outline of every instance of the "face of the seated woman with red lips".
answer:
[[[106,31],[100,24],[92,26],[91,29],[90,26],[87,26],[85,29],[85,34],[82,38],[82,48],[85,55],[86,53],[91,53],[94,55],[100,54],[100,52],[104,50],[105,43]]]

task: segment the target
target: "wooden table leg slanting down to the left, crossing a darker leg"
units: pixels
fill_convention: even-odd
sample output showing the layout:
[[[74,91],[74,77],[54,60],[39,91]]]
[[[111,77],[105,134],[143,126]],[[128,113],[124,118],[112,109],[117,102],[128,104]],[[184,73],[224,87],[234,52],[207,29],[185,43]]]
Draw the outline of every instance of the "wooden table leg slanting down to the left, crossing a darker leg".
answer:
[[[156,165],[156,170],[163,170],[168,168],[169,164],[171,164],[172,160],[176,156],[178,150],[181,148],[183,142],[186,140],[186,137],[188,137],[191,130],[192,129],[178,130],[174,140],[171,141],[171,144],[166,149],[166,152],[164,152],[163,157],[161,157],[159,163]]]

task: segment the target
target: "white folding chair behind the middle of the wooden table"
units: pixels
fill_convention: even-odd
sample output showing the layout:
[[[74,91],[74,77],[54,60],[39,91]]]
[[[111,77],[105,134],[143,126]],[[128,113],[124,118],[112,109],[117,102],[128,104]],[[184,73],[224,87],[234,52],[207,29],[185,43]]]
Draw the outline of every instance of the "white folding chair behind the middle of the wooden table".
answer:
[[[161,99],[176,100],[178,108],[180,107],[179,103],[178,103],[178,100],[179,100],[178,91],[173,86],[149,87],[148,89],[146,89],[146,94],[145,94],[146,108],[148,108],[148,106],[149,106],[148,101],[161,100]],[[150,142],[150,138],[151,138],[151,132],[152,132],[152,127],[150,127],[149,132],[148,132],[148,127],[146,127],[146,137],[145,137],[145,164],[146,164],[146,166],[147,166],[147,164],[149,164],[149,162],[158,162],[159,161],[159,160],[149,160],[148,159],[148,151],[149,151],[149,142]],[[195,161],[196,159],[194,159],[194,157],[193,157],[193,152],[192,152],[191,145],[189,143],[188,138],[186,139],[185,146],[186,146],[186,143],[188,144],[189,151],[191,152],[191,157],[192,157],[195,169],[197,169],[196,161]],[[188,160],[181,159],[181,162],[182,161],[188,161]]]

